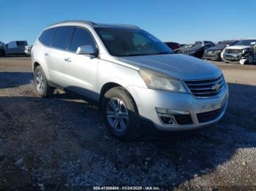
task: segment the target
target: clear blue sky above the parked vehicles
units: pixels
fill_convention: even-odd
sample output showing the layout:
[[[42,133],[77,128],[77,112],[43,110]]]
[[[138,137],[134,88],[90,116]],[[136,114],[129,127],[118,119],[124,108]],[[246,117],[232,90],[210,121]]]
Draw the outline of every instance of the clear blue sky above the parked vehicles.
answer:
[[[256,0],[0,0],[0,41],[33,44],[62,20],[128,23],[164,42],[256,38]]]

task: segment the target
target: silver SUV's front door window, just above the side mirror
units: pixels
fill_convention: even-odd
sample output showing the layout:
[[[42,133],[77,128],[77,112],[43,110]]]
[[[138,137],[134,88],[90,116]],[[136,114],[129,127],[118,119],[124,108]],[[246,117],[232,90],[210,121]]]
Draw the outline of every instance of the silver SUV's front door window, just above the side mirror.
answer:
[[[78,50],[78,47],[85,45],[91,45],[93,47],[96,46],[94,39],[89,31],[80,27],[75,28],[72,42],[68,50],[71,52],[76,52]]]

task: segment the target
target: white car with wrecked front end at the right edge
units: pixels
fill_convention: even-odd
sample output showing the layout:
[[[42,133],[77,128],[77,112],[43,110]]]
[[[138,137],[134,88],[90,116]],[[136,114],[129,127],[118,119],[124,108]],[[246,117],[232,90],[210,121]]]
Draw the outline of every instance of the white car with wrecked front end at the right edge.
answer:
[[[222,60],[226,63],[252,64],[256,58],[256,39],[244,39],[236,45],[226,47],[222,52]]]

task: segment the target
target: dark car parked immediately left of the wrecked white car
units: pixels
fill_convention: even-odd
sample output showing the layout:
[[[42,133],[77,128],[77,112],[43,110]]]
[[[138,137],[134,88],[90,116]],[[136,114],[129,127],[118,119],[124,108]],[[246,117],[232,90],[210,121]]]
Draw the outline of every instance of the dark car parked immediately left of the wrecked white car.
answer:
[[[237,40],[227,40],[227,41],[222,41],[216,44],[214,47],[209,47],[208,49],[205,50],[203,53],[203,58],[206,60],[214,60],[214,61],[221,61],[221,53],[224,50],[225,47],[230,47],[233,46],[237,43]]]

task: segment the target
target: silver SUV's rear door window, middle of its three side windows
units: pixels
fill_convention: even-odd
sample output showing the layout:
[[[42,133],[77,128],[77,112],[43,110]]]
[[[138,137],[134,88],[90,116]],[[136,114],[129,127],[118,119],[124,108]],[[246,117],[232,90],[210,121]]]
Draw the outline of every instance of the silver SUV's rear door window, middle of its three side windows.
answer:
[[[69,36],[71,34],[71,26],[61,26],[56,29],[56,32],[53,36],[53,41],[51,42],[51,47],[56,47],[59,49],[67,49],[67,43]]]

